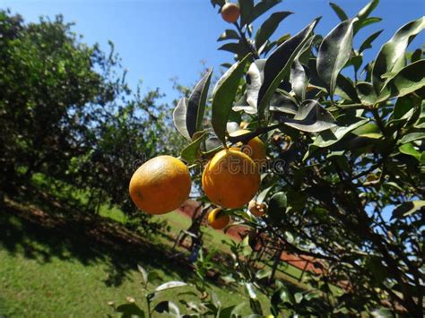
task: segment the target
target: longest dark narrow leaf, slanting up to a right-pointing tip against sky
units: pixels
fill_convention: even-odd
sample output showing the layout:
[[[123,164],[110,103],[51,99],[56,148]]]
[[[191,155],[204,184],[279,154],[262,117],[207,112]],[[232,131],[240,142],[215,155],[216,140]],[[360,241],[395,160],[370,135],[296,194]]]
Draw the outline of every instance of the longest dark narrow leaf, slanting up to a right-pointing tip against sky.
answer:
[[[265,80],[258,92],[258,114],[263,116],[269,107],[274,91],[279,87],[283,78],[290,74],[291,64],[299,51],[311,36],[317,24],[317,19],[312,21],[304,30],[301,30],[291,39],[277,47],[265,62]]]

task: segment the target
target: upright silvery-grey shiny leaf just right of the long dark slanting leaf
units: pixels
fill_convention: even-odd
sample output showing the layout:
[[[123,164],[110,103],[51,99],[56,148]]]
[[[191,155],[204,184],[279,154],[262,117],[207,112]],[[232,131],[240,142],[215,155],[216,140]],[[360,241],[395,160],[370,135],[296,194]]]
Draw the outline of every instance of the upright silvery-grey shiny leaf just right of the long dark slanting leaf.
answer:
[[[338,24],[326,35],[317,54],[317,74],[326,84],[331,97],[334,95],[336,79],[351,56],[352,24],[347,20]]]

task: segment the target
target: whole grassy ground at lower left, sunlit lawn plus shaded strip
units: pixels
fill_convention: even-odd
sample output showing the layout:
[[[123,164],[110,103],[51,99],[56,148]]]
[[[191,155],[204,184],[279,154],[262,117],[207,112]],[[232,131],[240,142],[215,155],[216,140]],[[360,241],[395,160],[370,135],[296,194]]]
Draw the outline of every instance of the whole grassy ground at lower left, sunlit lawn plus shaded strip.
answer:
[[[150,288],[169,280],[195,282],[186,256],[171,258],[170,242],[163,244],[164,238],[153,236],[135,244],[126,242],[131,233],[116,221],[84,224],[47,215],[37,208],[31,210],[32,214],[19,206],[1,209],[0,316],[115,315],[108,302],[120,305],[126,303],[126,297],[134,297],[143,304],[137,264],[160,273]],[[106,210],[103,213],[108,214]],[[109,217],[121,218],[117,211],[111,211]],[[188,225],[187,219],[178,220]],[[208,286],[222,305],[245,303],[245,312],[250,313],[243,288],[213,281]],[[172,299],[178,303],[178,293],[187,290],[195,288],[172,289],[155,302]]]

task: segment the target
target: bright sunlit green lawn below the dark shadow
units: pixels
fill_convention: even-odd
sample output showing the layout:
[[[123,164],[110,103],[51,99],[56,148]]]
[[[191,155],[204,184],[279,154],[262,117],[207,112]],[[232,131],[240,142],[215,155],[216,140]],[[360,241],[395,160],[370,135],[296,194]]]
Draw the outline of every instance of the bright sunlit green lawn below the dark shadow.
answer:
[[[119,286],[108,284],[111,267],[108,261],[84,264],[76,260],[52,257],[49,262],[28,259],[23,253],[9,254],[0,250],[0,314],[6,316],[75,316],[92,317],[114,314],[109,301],[117,305],[134,297],[144,305],[141,276],[138,271],[126,271]],[[160,271],[160,279],[180,279],[178,275]],[[154,288],[160,284],[156,280]],[[233,305],[246,299],[239,291],[213,287],[223,305]],[[155,300],[176,301],[179,292],[195,288],[178,288],[164,292]],[[184,297],[181,297],[184,298]]]

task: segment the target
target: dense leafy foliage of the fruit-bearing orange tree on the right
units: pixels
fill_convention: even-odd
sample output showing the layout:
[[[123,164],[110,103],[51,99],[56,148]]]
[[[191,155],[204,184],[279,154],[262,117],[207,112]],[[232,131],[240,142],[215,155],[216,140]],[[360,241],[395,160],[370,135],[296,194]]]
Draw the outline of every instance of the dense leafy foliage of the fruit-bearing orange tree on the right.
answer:
[[[353,38],[381,20],[370,16],[377,0],[352,18],[331,4],[341,22],[325,36],[314,33],[316,19],[297,34],[272,39],[288,12],[270,14],[254,30],[252,22],[280,2],[239,1],[239,21],[218,39],[227,41],[219,49],[236,63],[224,64],[228,70],[212,90],[211,125],[197,125],[209,86],[204,78],[194,100],[178,103],[174,121],[188,140],[181,156],[194,164],[255,136],[267,142],[269,165],[256,195],[268,203],[266,216],[226,212],[251,228],[248,243],[267,236],[276,250],[313,257],[322,273],[309,275],[311,291],[293,295],[279,281],[265,287],[255,256],[246,257],[249,246],[235,245],[231,274],[250,290],[254,314],[263,314],[252,297],[257,288],[278,316],[421,317],[425,60],[421,49],[407,49],[425,18],[401,26],[374,60],[363,61],[380,31],[360,47]],[[219,12],[224,4],[212,0]],[[250,132],[230,136],[241,120]]]

